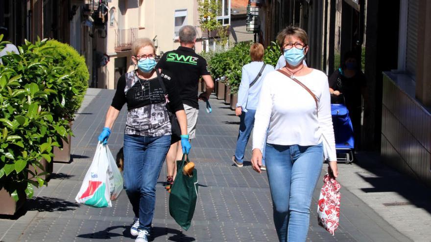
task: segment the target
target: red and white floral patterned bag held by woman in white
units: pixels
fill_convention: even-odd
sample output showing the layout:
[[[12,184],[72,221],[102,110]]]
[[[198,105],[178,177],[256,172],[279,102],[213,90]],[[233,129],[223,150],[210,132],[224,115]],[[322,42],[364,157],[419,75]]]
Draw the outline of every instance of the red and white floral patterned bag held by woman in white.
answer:
[[[340,218],[341,185],[333,177],[326,174],[323,177],[323,187],[320,190],[317,208],[319,225],[334,235]]]

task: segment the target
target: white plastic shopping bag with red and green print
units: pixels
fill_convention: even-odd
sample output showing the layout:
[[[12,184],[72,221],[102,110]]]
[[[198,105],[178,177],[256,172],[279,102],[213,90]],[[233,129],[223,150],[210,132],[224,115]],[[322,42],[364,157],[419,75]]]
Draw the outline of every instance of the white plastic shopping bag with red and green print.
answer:
[[[121,189],[122,178],[114,157],[107,145],[98,143],[75,200],[92,207],[112,207],[111,198],[117,198]]]

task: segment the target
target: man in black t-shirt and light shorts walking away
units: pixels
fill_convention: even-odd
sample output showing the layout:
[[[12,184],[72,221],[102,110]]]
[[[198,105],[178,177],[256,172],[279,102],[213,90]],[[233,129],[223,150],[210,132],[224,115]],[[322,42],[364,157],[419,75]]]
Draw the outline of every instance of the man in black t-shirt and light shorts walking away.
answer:
[[[156,68],[168,69],[177,80],[177,87],[187,114],[187,131],[189,139],[195,137],[197,115],[199,110],[198,100],[206,101],[214,89],[214,81],[207,69],[207,61],[193,50],[196,42],[196,29],[191,25],[181,27],[179,31],[180,47],[166,52]],[[206,91],[198,94],[198,82],[200,77],[205,82]],[[166,156],[168,168],[168,185],[172,183],[175,171],[175,160],[181,159],[183,153],[181,143],[177,137],[172,136],[172,145]]]

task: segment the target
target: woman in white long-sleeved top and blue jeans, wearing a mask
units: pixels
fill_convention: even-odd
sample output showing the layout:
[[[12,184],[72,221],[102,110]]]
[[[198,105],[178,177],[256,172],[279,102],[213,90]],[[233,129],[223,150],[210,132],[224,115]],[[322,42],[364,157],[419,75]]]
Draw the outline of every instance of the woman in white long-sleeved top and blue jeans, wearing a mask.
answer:
[[[261,173],[266,145],[266,169],[279,241],[304,242],[324,156],[329,160],[330,175],[338,175],[328,78],[304,66],[309,46],[303,29],[289,26],[278,34],[277,42],[286,66],[266,74],[263,80],[251,162],[253,169]]]

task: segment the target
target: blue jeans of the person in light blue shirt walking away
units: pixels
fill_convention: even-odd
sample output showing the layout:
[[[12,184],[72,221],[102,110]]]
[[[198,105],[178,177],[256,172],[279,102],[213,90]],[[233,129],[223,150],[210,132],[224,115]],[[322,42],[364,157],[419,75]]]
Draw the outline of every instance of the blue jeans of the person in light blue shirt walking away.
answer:
[[[247,112],[242,111],[239,115],[239,133],[237,139],[237,148],[235,149],[235,159],[242,163],[244,159],[245,147],[250,138],[251,131],[254,126],[254,115],[256,110],[247,109]],[[263,149],[262,165],[265,165],[265,149]]]

